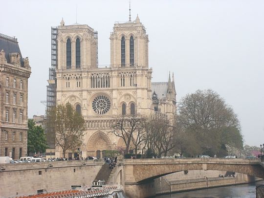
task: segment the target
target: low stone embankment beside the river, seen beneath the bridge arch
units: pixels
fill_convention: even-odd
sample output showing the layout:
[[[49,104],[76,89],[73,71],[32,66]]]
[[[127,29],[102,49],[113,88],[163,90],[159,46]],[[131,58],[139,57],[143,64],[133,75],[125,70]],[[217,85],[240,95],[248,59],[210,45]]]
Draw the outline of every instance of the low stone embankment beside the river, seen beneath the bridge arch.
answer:
[[[160,177],[155,179],[155,189],[156,195],[182,192],[189,190],[207,189],[220,186],[229,186],[237,184],[247,184],[255,181],[262,180],[254,176],[247,176],[244,174],[235,174],[235,176],[225,176],[225,177],[203,177],[197,179],[183,179],[183,180],[173,180],[173,177],[166,178]]]

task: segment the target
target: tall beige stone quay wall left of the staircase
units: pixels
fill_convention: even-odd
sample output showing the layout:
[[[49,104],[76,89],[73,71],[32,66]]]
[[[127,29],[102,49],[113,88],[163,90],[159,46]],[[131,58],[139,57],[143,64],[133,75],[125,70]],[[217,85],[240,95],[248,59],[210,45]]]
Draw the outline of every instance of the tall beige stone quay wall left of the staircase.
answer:
[[[0,172],[0,198],[90,186],[103,164],[103,160],[0,164],[5,169]]]

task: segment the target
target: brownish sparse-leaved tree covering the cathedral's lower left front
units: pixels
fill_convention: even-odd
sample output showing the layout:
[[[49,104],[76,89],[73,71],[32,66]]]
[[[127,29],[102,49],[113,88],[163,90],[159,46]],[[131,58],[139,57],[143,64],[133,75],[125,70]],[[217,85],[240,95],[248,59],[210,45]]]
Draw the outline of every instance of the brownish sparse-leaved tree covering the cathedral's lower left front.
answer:
[[[69,103],[49,110],[46,125],[54,130],[55,145],[62,148],[63,157],[67,150],[74,150],[83,142],[85,120]]]

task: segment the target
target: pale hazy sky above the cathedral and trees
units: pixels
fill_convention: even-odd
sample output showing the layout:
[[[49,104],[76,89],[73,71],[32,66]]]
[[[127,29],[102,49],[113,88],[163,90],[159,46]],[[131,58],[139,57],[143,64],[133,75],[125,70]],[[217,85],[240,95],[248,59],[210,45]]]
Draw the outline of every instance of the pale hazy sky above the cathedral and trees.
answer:
[[[28,116],[42,115],[50,66],[50,27],[76,22],[98,31],[99,65],[110,64],[114,22],[128,21],[129,0],[5,0],[0,33],[29,57]],[[211,88],[233,107],[246,144],[264,143],[264,0],[132,0],[149,34],[153,82],[174,72],[177,101]]]

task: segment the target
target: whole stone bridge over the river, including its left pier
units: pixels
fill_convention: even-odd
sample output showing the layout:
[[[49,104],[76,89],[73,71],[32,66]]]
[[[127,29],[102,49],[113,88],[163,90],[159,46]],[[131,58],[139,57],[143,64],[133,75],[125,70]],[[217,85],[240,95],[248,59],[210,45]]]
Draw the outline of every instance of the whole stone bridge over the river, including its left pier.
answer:
[[[264,178],[264,168],[258,159],[121,159],[117,164],[122,169],[118,169],[113,182],[123,184],[129,198],[154,196],[154,178],[179,171],[219,170]]]

